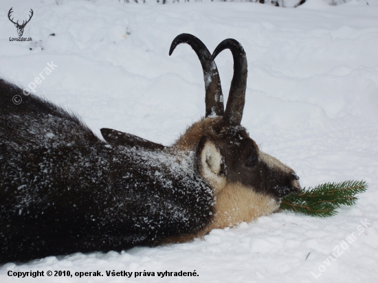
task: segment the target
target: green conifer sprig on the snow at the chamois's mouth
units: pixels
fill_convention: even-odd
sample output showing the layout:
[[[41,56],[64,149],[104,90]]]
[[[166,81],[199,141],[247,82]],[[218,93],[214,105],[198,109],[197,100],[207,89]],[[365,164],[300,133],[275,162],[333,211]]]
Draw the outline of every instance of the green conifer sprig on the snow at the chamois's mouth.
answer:
[[[284,196],[280,208],[311,216],[333,216],[340,205],[355,205],[358,199],[355,194],[365,192],[367,188],[365,181],[324,183]]]

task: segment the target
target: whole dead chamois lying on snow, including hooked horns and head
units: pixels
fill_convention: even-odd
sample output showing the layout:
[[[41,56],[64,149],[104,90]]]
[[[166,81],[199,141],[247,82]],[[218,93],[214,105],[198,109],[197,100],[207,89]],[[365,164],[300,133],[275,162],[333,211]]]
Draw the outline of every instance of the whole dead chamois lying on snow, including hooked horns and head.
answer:
[[[234,39],[210,54],[191,34],[205,81],[205,117],[172,146],[102,128],[0,79],[0,263],[186,242],[270,214],[300,189],[295,172],[261,152],[241,126],[247,58]],[[224,110],[214,58],[230,49]]]

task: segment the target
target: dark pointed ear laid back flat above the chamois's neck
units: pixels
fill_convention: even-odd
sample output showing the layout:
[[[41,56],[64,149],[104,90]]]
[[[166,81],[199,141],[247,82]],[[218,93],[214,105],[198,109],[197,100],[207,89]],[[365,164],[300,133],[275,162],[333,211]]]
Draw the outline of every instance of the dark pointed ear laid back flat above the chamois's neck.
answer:
[[[145,148],[150,150],[163,150],[165,148],[165,146],[162,144],[156,144],[153,141],[142,139],[142,137],[115,131],[111,128],[101,128],[100,132],[105,141],[111,144],[111,146],[135,146],[136,148]]]

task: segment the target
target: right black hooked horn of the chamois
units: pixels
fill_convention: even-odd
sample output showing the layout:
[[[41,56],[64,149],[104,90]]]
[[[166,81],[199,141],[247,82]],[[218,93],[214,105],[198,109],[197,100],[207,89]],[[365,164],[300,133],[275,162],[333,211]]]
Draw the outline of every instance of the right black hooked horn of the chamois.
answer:
[[[245,104],[245,89],[247,88],[247,56],[238,41],[228,38],[215,48],[212,60],[224,49],[230,49],[234,58],[234,76],[232,76],[223,119],[226,124],[240,125]]]

